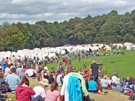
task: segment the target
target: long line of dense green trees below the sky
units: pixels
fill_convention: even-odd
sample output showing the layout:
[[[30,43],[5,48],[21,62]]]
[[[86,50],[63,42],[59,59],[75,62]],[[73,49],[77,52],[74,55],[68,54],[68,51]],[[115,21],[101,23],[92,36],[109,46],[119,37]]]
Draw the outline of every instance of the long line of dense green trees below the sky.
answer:
[[[3,22],[0,26],[0,51],[16,51],[64,44],[135,42],[135,10],[119,15],[108,14],[50,23]]]

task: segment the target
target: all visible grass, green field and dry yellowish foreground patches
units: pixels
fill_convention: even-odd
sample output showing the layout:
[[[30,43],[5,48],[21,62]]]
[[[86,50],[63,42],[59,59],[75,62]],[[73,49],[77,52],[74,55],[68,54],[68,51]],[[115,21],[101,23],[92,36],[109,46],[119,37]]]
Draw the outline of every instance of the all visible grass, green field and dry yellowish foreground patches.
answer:
[[[125,51],[125,55],[121,54],[115,54],[111,56],[99,56],[99,57],[90,57],[90,58],[83,58],[81,59],[81,62],[78,60],[72,60],[72,65],[75,67],[83,67],[83,64],[86,63],[87,68],[92,64],[93,59],[101,59],[103,68],[106,68],[107,74],[109,76],[112,75],[112,68],[111,64],[109,63],[110,61],[114,61],[113,65],[113,72],[118,69],[118,77],[123,78],[123,77],[134,77],[135,78],[135,51]],[[65,65],[65,64],[63,64]],[[56,68],[58,66],[58,63],[50,63],[47,65],[49,70],[51,68]],[[38,82],[36,82],[35,79],[30,78],[30,87],[33,88],[34,86],[39,85]],[[47,87],[46,90],[50,89],[50,87]],[[59,88],[60,91],[61,88]],[[104,90],[106,91],[106,90]],[[107,95],[99,95],[99,94],[92,94],[89,93],[89,96],[91,98],[94,98],[96,101],[130,101],[128,100],[129,96],[124,95],[123,93],[116,92],[113,90],[107,90],[108,94]],[[8,98],[11,98],[11,101],[16,101],[15,100],[15,94],[8,93]]]

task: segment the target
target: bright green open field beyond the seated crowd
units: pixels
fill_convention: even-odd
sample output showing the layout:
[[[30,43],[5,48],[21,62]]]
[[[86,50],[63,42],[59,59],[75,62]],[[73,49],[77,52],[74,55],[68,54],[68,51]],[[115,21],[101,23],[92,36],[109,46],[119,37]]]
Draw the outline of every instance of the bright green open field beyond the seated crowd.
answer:
[[[125,55],[121,54],[115,54],[110,56],[98,56],[98,57],[90,57],[90,58],[82,58],[81,62],[79,62],[78,59],[72,60],[71,63],[72,66],[75,67],[83,67],[83,64],[86,63],[87,68],[90,67],[92,64],[93,59],[101,59],[103,68],[107,70],[107,75],[112,76],[112,73],[115,72],[115,70],[118,70],[118,77],[124,78],[127,76],[135,77],[135,50],[123,50],[125,51]],[[105,53],[105,51],[103,51]],[[73,56],[72,56],[73,57]],[[71,58],[72,58],[71,57]],[[110,61],[114,61],[114,64],[111,65]],[[63,64],[65,66],[65,63]],[[56,68],[58,66],[58,62],[47,64],[47,67],[49,70],[51,68]]]

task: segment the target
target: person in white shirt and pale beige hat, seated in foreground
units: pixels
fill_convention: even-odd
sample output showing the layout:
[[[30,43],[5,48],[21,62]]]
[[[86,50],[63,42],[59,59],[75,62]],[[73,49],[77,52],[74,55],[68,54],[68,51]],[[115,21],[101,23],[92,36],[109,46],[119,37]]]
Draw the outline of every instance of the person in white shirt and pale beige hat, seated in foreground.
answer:
[[[43,101],[45,100],[45,88],[48,87],[48,80],[43,78],[42,81],[40,81],[39,83],[39,86],[33,88],[36,94],[32,96],[32,101],[35,100],[38,96],[41,96],[43,98]]]

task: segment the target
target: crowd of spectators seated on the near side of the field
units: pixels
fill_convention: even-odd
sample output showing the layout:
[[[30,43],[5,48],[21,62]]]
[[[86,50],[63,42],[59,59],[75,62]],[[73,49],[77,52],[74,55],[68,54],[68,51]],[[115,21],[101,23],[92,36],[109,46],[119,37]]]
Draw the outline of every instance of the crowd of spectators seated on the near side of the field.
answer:
[[[72,70],[64,71],[60,62],[57,70],[48,70],[46,62],[40,67],[38,59],[34,59],[35,66],[30,59],[16,60],[13,55],[11,60],[6,58],[1,61],[0,84],[8,84],[8,92],[15,92],[17,101],[94,101],[90,99],[88,92],[95,94],[107,94],[103,89],[116,90],[133,96],[135,80],[132,77],[124,78],[119,85],[114,73],[112,77],[107,74],[100,77],[100,68],[93,60],[89,70],[74,73]],[[10,62],[9,62],[10,61]],[[29,77],[36,78],[39,85],[31,89]],[[45,92],[45,88],[50,89]],[[61,87],[61,91],[58,91]],[[76,97],[78,96],[78,97]]]

